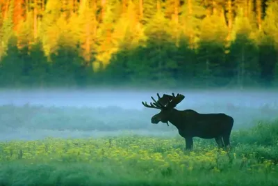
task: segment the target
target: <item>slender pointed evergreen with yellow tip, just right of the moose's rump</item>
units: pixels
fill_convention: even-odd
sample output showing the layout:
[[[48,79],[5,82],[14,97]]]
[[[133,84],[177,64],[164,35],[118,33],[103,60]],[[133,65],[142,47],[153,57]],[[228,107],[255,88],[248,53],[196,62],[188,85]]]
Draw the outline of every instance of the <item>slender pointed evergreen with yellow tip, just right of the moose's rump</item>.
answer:
[[[252,24],[244,16],[243,8],[238,9],[233,34],[234,41],[231,42],[229,60],[231,63],[234,62],[234,80],[240,88],[243,88],[259,80],[258,51],[256,42],[251,38]]]

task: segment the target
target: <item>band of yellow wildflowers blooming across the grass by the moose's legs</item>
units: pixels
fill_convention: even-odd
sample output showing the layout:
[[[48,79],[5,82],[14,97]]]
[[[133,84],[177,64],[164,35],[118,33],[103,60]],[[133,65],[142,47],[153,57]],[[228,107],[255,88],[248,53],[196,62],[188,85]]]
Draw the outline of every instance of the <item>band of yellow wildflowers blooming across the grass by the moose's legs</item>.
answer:
[[[42,141],[10,141],[0,143],[0,162],[18,159],[31,162],[111,162],[117,165],[138,166],[147,172],[165,170],[179,171],[208,170],[222,171],[229,158],[233,166],[246,171],[275,171],[277,165],[271,160],[254,161],[254,156],[227,156],[218,148],[196,148],[193,152],[183,152],[173,148],[173,139],[124,137],[119,139],[44,139]],[[197,143],[196,143],[197,144]],[[253,158],[252,160],[250,158]],[[236,162],[237,161],[237,162]],[[242,166],[242,167],[240,167]]]

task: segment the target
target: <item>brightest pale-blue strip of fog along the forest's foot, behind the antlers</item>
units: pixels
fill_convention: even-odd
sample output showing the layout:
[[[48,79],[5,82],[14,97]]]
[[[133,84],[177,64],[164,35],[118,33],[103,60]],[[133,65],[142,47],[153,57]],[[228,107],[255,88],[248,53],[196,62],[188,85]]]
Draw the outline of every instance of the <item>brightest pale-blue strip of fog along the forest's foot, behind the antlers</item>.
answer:
[[[142,109],[142,101],[152,101],[156,93],[181,93],[186,96],[177,108],[187,109],[204,104],[233,104],[238,107],[259,108],[278,106],[278,91],[0,91],[0,104],[42,105],[44,107],[121,107]],[[210,105],[211,106],[211,105]],[[209,109],[206,108],[206,109]]]

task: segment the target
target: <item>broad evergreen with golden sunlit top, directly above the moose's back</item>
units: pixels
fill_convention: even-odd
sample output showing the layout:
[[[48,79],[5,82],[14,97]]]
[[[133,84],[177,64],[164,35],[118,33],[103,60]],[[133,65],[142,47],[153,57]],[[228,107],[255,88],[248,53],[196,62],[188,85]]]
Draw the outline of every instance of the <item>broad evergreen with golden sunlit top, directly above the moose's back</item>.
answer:
[[[205,86],[224,86],[229,82],[225,72],[227,24],[224,21],[224,11],[208,15],[201,25],[198,46],[198,74]]]

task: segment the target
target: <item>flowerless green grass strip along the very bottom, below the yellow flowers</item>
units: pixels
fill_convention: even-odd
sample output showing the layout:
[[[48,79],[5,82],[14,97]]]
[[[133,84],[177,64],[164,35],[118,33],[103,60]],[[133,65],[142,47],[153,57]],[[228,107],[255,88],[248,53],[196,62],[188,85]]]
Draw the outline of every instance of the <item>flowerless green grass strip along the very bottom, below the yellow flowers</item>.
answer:
[[[1,185],[277,185],[277,173],[229,169],[221,173],[173,171],[169,176],[110,164],[1,164]]]

